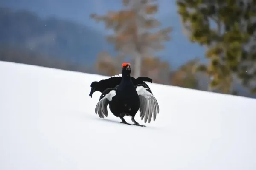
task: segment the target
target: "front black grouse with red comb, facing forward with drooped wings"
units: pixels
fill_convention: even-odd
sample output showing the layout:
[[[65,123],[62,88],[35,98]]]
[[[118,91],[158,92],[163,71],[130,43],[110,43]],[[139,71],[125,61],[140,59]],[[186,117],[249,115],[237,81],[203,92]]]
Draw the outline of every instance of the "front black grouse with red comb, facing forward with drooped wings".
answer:
[[[144,84],[134,85],[131,80],[131,65],[124,63],[122,65],[122,80],[115,88],[107,88],[100,96],[96,105],[95,113],[100,118],[108,116],[107,106],[116,117],[119,117],[124,124],[127,123],[124,116],[131,116],[134,125],[140,125],[135,121],[134,117],[140,109],[140,118],[144,118],[144,122],[150,123],[152,116],[155,121],[157,113],[159,113],[159,105],[152,94],[152,91]]]

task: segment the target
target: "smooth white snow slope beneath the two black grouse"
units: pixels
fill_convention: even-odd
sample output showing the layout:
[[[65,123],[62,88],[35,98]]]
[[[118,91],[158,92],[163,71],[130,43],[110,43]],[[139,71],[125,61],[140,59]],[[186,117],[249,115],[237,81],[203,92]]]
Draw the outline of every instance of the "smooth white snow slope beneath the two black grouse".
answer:
[[[255,99],[148,83],[137,127],[94,113],[105,78],[0,62],[0,170],[256,170]]]

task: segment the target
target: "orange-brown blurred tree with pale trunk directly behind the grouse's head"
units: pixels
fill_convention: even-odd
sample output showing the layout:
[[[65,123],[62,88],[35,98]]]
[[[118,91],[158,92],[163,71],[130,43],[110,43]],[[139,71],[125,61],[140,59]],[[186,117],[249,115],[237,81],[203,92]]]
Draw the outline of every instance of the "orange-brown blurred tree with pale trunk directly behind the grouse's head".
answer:
[[[160,26],[152,16],[157,13],[157,0],[122,0],[125,9],[109,11],[106,15],[91,14],[97,22],[103,21],[107,29],[114,31],[107,41],[115,45],[115,50],[135,57],[134,77],[141,75],[141,62],[144,57],[154,56],[155,51],[163,50],[161,44],[170,40],[172,28],[152,32]]]

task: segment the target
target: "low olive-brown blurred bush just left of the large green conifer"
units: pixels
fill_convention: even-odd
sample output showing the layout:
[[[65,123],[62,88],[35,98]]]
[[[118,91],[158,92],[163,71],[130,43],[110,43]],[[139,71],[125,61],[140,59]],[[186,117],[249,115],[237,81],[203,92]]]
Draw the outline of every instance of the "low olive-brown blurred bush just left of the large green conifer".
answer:
[[[198,59],[193,59],[183,64],[171,75],[171,85],[198,89],[198,79],[193,73],[193,69],[198,62]]]

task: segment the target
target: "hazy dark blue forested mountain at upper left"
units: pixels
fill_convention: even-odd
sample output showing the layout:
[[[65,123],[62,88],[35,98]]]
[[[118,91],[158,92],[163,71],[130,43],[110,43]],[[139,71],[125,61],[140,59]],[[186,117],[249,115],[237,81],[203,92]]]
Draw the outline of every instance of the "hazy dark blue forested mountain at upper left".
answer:
[[[29,11],[0,8],[0,45],[29,49],[44,56],[91,65],[99,51],[114,54],[101,32]]]

